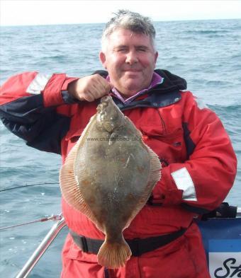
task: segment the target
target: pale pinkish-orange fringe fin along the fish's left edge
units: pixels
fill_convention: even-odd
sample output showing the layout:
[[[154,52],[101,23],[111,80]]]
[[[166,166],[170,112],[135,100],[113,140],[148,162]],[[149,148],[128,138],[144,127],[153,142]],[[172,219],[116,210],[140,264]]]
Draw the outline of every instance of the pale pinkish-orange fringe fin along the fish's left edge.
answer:
[[[89,124],[91,124],[91,120]],[[86,128],[84,129],[84,134],[86,134],[89,124],[87,124]],[[67,204],[85,214],[92,221],[96,222],[96,218],[89,209],[88,204],[86,204],[84,201],[82,192],[79,189],[78,182],[74,177],[74,161],[77,156],[77,151],[82,145],[81,138],[84,136],[84,134],[82,134],[82,136],[77,141],[77,144],[75,144],[71,151],[69,151],[69,154],[65,160],[65,164],[62,166],[62,168],[60,168],[60,189]]]

